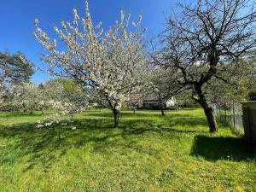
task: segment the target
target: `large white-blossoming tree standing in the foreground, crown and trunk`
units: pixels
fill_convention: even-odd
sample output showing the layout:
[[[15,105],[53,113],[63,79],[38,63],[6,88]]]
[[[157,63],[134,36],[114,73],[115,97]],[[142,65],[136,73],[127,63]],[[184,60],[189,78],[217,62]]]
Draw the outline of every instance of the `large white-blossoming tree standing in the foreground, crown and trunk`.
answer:
[[[85,2],[85,18],[80,18],[73,9],[73,24],[62,21],[61,28],[54,30],[65,44],[65,50],[57,50],[56,40],[51,40],[46,32],[37,26],[34,32],[38,42],[47,53],[43,61],[48,63],[48,73],[68,77],[84,87],[97,90],[113,111],[114,127],[119,125],[121,103],[143,84],[145,70],[143,33],[140,30],[142,16],[132,22],[121,10],[120,20],[103,32],[101,23],[93,25],[88,1]],[[81,24],[81,26],[79,25]]]

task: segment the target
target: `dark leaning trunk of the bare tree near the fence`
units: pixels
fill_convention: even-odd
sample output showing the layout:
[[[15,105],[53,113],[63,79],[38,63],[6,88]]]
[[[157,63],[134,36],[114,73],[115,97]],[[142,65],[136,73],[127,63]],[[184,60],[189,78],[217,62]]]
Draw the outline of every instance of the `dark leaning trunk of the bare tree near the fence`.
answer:
[[[199,104],[201,105],[201,107],[204,109],[204,112],[207,116],[207,122],[210,128],[210,132],[217,132],[218,131],[218,125],[216,123],[216,119],[215,116],[213,114],[213,109],[208,105],[207,103],[207,98],[204,95],[204,93],[201,90],[201,87],[195,87],[195,91],[197,93],[197,95],[199,96],[199,98],[195,98],[196,102],[199,102]]]

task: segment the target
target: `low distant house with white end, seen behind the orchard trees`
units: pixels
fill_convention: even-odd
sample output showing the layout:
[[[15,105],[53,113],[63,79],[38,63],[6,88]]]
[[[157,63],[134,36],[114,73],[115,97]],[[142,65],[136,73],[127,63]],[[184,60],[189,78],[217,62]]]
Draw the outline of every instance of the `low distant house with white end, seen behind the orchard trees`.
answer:
[[[177,101],[172,96],[171,99],[168,99],[165,104],[164,108],[176,108]],[[143,100],[143,108],[144,109],[160,109],[160,101],[156,99],[155,97],[148,97]]]

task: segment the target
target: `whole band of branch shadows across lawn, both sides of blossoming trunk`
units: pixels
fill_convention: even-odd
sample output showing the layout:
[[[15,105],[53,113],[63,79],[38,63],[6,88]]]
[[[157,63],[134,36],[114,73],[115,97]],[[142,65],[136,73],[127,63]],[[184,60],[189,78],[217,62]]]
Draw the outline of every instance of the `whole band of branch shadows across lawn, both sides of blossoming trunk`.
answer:
[[[73,126],[77,129],[72,130]],[[171,138],[173,134],[183,133],[200,134],[202,131],[160,127],[154,125],[154,119],[124,119],[120,129],[113,129],[113,119],[81,119],[66,126],[43,128],[36,128],[36,124],[29,123],[1,126],[0,139],[8,139],[12,144],[0,148],[6,154],[0,159],[0,165],[21,162],[26,157],[25,172],[38,164],[47,171],[68,150],[87,144],[96,153],[111,153],[108,148],[116,148],[116,153],[126,153],[126,148],[154,155],[158,151],[137,144],[140,137],[148,137],[148,134],[161,137],[166,134],[166,137]],[[15,156],[8,155],[9,151],[14,151]]]

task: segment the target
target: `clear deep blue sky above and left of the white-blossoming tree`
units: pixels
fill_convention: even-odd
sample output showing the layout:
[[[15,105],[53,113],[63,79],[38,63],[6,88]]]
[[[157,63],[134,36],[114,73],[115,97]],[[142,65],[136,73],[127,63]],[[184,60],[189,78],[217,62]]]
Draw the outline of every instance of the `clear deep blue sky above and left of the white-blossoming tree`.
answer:
[[[131,13],[136,20],[143,13],[143,26],[148,27],[148,37],[164,28],[164,12],[174,5],[170,0],[89,0],[90,14],[95,23],[102,21],[104,27],[113,26],[119,19],[119,9]],[[0,15],[0,50],[8,49],[11,53],[18,50],[26,55],[35,65],[44,67],[40,52],[43,48],[33,37],[33,20],[38,18],[40,27],[50,37],[54,37],[52,24],[59,25],[61,20],[73,20],[73,7],[79,15],[84,15],[84,0],[1,0]],[[37,72],[32,82],[40,83],[49,79],[49,75]]]

